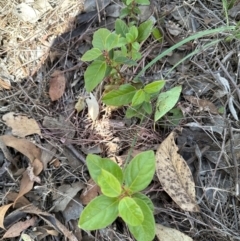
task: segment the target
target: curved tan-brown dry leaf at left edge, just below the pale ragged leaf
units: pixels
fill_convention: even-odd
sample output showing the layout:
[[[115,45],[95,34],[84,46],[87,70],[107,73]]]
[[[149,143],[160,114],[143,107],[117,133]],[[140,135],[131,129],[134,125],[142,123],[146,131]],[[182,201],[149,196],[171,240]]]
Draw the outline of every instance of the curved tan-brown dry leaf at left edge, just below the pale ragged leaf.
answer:
[[[12,147],[17,151],[25,155],[32,163],[35,159],[40,160],[41,151],[32,142],[26,139],[19,139],[14,136],[0,136],[0,140],[4,142],[6,146]]]

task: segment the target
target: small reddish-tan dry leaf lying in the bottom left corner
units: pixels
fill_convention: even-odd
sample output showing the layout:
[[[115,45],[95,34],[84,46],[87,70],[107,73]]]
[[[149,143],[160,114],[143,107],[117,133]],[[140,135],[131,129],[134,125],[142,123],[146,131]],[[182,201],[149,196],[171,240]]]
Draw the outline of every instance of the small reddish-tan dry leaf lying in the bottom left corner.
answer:
[[[26,230],[30,226],[34,226],[36,222],[36,217],[32,217],[31,219],[27,219],[25,221],[19,221],[13,224],[7,232],[3,235],[3,238],[14,238],[18,237],[22,231]]]

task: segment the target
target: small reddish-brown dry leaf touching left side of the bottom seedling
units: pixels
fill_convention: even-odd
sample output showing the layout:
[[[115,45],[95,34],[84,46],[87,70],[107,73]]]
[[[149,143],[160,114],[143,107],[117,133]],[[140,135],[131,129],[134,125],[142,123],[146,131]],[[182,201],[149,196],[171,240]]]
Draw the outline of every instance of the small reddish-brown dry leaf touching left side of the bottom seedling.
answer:
[[[90,179],[87,182],[87,186],[84,188],[82,194],[80,195],[80,200],[83,205],[90,203],[95,197],[101,192],[100,187]]]

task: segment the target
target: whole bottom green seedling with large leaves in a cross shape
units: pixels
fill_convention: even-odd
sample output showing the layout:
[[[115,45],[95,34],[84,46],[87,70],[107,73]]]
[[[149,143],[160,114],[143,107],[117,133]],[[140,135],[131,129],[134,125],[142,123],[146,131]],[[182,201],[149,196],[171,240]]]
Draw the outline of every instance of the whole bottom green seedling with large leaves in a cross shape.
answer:
[[[152,181],[155,172],[153,151],[135,156],[122,170],[115,162],[97,155],[87,156],[87,167],[102,195],[93,199],[81,213],[79,227],[102,229],[121,217],[138,241],[151,241],[155,236],[153,204],[140,193]]]

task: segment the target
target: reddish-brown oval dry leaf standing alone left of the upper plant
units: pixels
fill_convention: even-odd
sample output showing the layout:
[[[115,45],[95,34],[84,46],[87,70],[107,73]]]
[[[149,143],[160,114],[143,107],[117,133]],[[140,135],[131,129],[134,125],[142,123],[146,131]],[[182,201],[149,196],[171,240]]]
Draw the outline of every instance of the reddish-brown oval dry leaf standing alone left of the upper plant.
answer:
[[[49,96],[52,101],[62,97],[66,86],[66,78],[60,70],[55,70],[51,75]]]

